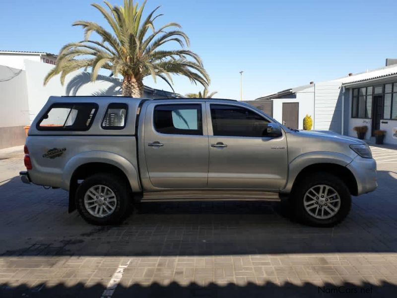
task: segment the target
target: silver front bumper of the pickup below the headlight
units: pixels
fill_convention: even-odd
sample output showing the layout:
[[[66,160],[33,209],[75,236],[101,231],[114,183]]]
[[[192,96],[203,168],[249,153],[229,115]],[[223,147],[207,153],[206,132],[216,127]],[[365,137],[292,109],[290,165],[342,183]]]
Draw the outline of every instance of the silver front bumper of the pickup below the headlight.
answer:
[[[374,191],[378,187],[375,159],[357,156],[347,168],[356,178],[358,196]]]

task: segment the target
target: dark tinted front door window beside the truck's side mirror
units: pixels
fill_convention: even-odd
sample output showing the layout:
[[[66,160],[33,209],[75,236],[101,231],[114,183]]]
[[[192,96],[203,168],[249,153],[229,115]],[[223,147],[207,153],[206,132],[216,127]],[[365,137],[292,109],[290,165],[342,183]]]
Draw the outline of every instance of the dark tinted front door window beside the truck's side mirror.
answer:
[[[214,136],[266,137],[267,123],[257,113],[237,106],[211,104]]]

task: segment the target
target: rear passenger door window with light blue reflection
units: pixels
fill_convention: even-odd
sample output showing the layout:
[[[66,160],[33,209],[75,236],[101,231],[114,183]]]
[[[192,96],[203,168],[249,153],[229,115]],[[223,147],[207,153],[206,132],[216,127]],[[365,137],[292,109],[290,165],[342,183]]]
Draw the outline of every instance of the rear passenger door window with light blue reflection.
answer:
[[[202,135],[201,105],[157,105],[154,108],[154,128],[162,134]]]

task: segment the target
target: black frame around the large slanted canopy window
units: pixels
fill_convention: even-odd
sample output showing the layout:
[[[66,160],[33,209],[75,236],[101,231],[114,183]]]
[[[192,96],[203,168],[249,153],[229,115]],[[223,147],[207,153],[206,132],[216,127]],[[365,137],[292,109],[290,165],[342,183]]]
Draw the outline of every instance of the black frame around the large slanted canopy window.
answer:
[[[45,117],[46,115],[48,115],[48,113],[49,113],[53,108],[56,108],[56,107],[61,107],[61,108],[62,108],[62,107],[68,106],[68,105],[70,106],[69,114],[70,114],[70,112],[71,112],[73,106],[75,106],[75,105],[87,105],[87,106],[90,105],[90,106],[93,106],[93,107],[95,108],[95,111],[94,111],[94,113],[92,114],[91,121],[90,121],[89,125],[88,125],[86,128],[72,128],[72,129],[70,129],[70,128],[65,128],[65,123],[64,123],[64,125],[63,125],[62,127],[59,127],[59,126],[40,126],[40,124],[41,124],[41,123],[43,122],[43,120],[45,119],[44,117]],[[39,120],[39,121],[37,122],[37,124],[36,124],[36,129],[37,129],[38,131],[86,132],[86,131],[90,130],[92,124],[94,123],[95,116],[96,116],[96,114],[98,113],[98,109],[99,109],[99,105],[98,105],[97,103],[95,103],[95,102],[55,102],[55,103],[53,103],[53,104],[46,110],[46,112],[40,117],[40,120]],[[66,120],[67,120],[67,118],[69,117],[69,114],[67,115]],[[65,122],[66,122],[66,120],[65,120]]]

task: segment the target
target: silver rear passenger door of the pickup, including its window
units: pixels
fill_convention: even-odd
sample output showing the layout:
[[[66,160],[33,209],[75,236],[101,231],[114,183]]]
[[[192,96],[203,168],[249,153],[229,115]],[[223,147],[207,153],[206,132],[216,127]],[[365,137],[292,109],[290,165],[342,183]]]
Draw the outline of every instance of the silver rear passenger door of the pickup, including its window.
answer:
[[[147,107],[144,151],[154,187],[207,186],[208,136],[202,116],[205,105],[190,102],[157,102]]]

